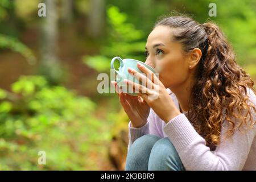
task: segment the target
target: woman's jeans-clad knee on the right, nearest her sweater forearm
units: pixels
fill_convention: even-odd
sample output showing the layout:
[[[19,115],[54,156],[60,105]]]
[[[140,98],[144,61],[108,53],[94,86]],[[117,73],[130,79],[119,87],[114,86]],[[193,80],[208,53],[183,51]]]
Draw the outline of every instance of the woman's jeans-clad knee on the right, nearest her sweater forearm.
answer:
[[[148,160],[148,170],[184,170],[179,155],[170,139],[162,138],[154,144]]]

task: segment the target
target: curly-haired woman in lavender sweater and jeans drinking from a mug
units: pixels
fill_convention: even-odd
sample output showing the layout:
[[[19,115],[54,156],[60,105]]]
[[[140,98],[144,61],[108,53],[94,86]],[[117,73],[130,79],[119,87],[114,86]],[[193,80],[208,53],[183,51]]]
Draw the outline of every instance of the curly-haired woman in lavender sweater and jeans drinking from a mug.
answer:
[[[130,118],[126,170],[256,170],[254,82],[216,24],[160,20],[148,35],[146,64],[159,78],[129,72],[152,89],[127,81],[139,97],[118,93]]]

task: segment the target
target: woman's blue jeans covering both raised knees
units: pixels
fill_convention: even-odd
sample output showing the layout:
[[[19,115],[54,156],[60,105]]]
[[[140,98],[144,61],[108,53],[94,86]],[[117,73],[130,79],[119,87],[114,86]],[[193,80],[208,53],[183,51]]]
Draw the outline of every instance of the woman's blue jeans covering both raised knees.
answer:
[[[169,138],[143,135],[131,144],[126,171],[184,171],[179,155]]]

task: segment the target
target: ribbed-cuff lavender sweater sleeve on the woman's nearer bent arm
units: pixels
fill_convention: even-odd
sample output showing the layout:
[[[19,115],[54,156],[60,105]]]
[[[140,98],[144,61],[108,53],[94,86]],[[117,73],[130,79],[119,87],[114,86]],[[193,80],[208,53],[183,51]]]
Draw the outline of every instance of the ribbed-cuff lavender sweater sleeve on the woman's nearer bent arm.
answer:
[[[251,91],[252,92],[252,91]],[[250,100],[256,104],[254,93]],[[252,110],[255,121],[255,111]],[[256,127],[242,132],[235,130],[231,137],[222,135],[226,126],[222,126],[220,144],[210,151],[202,138],[184,114],[179,114],[164,126],[164,132],[174,144],[186,170],[241,170],[249,155],[255,137]],[[236,122],[237,123],[237,122]]]

